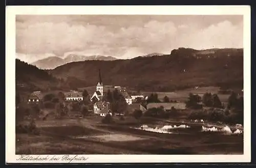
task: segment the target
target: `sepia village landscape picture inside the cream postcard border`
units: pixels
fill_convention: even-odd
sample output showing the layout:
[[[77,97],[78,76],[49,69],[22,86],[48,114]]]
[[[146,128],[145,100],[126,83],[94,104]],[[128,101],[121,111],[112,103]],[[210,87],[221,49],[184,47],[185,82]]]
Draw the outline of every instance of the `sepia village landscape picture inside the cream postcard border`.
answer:
[[[244,155],[244,23],[236,13],[16,14],[12,152]]]

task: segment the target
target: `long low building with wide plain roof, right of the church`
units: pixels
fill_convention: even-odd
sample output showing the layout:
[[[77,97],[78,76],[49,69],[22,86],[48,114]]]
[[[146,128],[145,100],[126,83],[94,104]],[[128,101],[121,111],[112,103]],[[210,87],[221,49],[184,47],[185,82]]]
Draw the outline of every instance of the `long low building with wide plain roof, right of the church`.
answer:
[[[171,110],[172,108],[175,108],[177,110],[184,110],[186,109],[185,103],[149,103],[147,104],[147,109],[149,108],[158,108],[163,107],[165,111]]]

